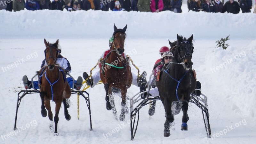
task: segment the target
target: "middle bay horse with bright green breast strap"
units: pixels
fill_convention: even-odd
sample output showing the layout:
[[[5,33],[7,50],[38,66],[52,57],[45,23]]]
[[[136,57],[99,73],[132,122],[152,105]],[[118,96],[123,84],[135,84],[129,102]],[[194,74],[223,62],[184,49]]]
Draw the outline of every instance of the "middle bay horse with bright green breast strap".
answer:
[[[117,89],[121,90],[122,109],[119,116],[121,121],[124,121],[124,114],[129,112],[128,107],[126,107],[126,92],[132,84],[132,72],[129,65],[129,60],[124,57],[124,39],[126,37],[126,28],[127,25],[123,29],[117,29],[116,25],[114,24],[114,41],[111,45],[111,51],[102,60],[102,66],[100,67],[100,79],[102,80],[106,91],[106,108],[107,110],[111,110],[113,108],[113,114],[115,116],[116,110],[114,100],[109,100],[109,96],[112,97],[112,87],[116,87]],[[112,106],[111,101],[113,102]]]

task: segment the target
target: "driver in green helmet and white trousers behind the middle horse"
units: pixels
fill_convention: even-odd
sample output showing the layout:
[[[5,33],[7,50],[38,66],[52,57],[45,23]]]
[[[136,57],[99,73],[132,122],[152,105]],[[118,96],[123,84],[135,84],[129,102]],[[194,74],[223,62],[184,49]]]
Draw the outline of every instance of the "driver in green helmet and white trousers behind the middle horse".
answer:
[[[110,39],[108,41],[109,42],[109,49],[107,49],[105,52],[102,53],[102,55],[100,56],[101,60],[104,59],[107,56],[107,54],[111,51],[111,46],[112,46],[113,41],[114,41],[114,37],[112,36],[112,37],[110,37]],[[123,53],[122,56],[126,59],[126,54],[125,53]],[[99,67],[100,66],[101,66],[101,64],[99,64]],[[145,71],[143,71],[141,76],[139,76],[139,77],[132,72],[132,84],[134,84],[135,86],[140,87],[140,85],[142,83],[147,83],[146,76],[147,76],[147,73]],[[83,77],[86,80],[89,77],[89,75],[86,72],[84,72]],[[90,85],[93,88],[96,84],[98,84],[98,82],[100,80],[101,80],[100,79],[100,71],[97,71],[94,75],[92,75],[91,79],[88,79],[86,81],[86,84]]]

